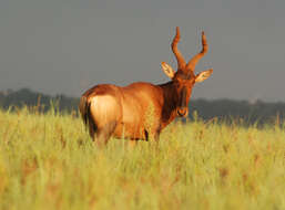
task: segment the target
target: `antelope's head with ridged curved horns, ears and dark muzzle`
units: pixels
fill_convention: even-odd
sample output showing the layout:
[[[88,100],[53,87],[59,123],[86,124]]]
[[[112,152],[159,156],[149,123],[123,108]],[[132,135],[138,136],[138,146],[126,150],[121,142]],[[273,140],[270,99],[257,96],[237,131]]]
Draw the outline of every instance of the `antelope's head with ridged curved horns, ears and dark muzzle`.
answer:
[[[213,70],[203,71],[199,74],[194,73],[196,63],[207,52],[207,42],[204,32],[202,32],[202,51],[193,56],[189,63],[185,62],[181,52],[177,50],[177,43],[180,41],[180,29],[176,28],[176,35],[171,44],[172,51],[177,60],[177,71],[175,72],[169,64],[162,62],[162,70],[173,81],[176,95],[176,112],[181,117],[187,116],[189,101],[191,97],[192,88],[195,83],[203,82],[208,78],[213,73]]]

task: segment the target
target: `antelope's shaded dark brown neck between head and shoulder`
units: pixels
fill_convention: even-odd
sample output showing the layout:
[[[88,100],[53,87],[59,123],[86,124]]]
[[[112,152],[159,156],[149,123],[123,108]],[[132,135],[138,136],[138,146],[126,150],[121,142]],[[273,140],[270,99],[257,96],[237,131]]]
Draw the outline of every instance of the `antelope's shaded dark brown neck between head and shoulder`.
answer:
[[[173,82],[159,86],[163,92],[162,126],[165,127],[176,117],[177,93]]]

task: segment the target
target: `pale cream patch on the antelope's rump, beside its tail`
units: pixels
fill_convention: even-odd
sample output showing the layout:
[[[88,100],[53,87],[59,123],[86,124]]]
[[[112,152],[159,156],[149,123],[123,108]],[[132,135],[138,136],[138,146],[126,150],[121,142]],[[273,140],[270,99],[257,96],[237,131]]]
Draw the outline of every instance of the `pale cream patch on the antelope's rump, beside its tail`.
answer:
[[[98,95],[89,101],[92,118],[99,128],[119,119],[120,104],[112,95]]]

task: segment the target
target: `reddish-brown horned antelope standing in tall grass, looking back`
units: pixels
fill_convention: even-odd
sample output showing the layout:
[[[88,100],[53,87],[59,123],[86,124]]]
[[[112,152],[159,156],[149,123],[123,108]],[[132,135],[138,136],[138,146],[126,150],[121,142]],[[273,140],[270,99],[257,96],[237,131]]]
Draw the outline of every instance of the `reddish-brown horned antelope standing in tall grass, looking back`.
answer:
[[[210,77],[213,70],[196,75],[194,73],[196,63],[208,49],[204,32],[202,51],[187,63],[177,49],[179,42],[180,29],[176,28],[171,46],[177,61],[177,71],[165,62],[161,63],[170,82],[159,85],[135,82],[122,87],[99,84],[81,96],[79,109],[93,140],[99,145],[106,144],[111,136],[132,140],[159,140],[161,130],[176,116],[187,116],[194,84]]]

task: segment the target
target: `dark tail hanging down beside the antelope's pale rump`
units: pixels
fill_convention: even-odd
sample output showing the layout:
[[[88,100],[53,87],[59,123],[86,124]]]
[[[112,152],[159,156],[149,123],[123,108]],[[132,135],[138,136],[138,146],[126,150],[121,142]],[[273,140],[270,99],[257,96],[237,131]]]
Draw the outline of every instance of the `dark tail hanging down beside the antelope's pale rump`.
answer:
[[[90,105],[91,103],[88,102],[88,97],[82,95],[79,103],[79,111],[85,126],[89,126],[90,136],[94,137],[96,125],[91,116]]]

